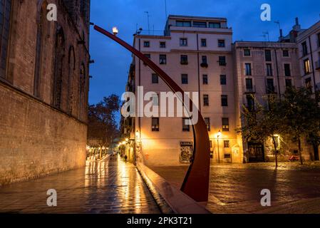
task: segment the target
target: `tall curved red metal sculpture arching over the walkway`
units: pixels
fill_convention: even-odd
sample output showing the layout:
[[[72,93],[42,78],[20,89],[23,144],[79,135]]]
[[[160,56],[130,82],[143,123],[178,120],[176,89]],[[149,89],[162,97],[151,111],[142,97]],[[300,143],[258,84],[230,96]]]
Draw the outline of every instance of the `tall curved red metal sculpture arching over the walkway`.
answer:
[[[121,46],[128,49],[128,51],[132,52],[135,56],[140,58],[146,65],[148,65],[155,73],[162,78],[162,80],[169,86],[173,93],[180,92],[184,94],[184,91],[180,88],[180,86],[175,83],[175,81],[170,78],[160,67],[158,67],[153,61],[149,58],[145,57],[143,53],[138,51],[137,49],[130,46],[125,41],[121,40],[117,36],[105,31],[105,29],[100,28],[99,26],[94,26],[94,29],[103,35],[108,36],[113,39],[113,41],[119,43]],[[184,101],[182,100],[182,103]],[[190,105],[192,105],[192,100],[190,99]],[[189,170],[187,171],[187,175],[185,176],[185,180],[182,184],[181,190],[185,192],[188,196],[195,199],[197,202],[207,202],[208,194],[209,194],[209,175],[210,175],[210,140],[207,131],[207,125],[205,124],[205,120],[202,118],[200,111],[198,110],[199,120],[198,122],[192,126],[193,128],[193,137],[194,137],[194,151],[193,151],[193,159]]]

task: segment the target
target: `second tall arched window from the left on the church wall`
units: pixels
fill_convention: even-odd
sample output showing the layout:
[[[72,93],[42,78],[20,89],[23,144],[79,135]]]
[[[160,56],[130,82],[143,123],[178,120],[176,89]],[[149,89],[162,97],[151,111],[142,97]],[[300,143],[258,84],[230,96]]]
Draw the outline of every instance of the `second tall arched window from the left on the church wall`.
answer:
[[[34,84],[33,95],[40,97],[40,84],[41,84],[41,70],[43,68],[43,46],[46,43],[46,36],[48,34],[48,27],[46,26],[46,1],[42,1],[40,8],[38,9],[37,17],[37,36],[36,36],[36,66],[34,70]]]

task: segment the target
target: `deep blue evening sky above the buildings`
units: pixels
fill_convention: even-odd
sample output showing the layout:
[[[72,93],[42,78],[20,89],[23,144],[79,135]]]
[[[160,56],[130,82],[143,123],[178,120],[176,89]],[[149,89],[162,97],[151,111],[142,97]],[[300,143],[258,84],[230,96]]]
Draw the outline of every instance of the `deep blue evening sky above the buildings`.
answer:
[[[260,6],[264,3],[272,7],[272,21],[261,21]],[[165,0],[91,0],[91,21],[109,31],[113,26],[119,29],[118,36],[133,43],[136,26],[148,30],[163,30],[165,26]],[[228,26],[233,28],[234,41],[264,41],[262,33],[269,31],[270,41],[277,41],[280,21],[284,35],[299,17],[302,28],[309,28],[320,20],[320,1],[276,1],[276,0],[167,0],[167,14],[188,16],[226,17]],[[89,103],[98,103],[103,96],[112,93],[121,95],[125,90],[131,53],[91,28],[91,79]]]

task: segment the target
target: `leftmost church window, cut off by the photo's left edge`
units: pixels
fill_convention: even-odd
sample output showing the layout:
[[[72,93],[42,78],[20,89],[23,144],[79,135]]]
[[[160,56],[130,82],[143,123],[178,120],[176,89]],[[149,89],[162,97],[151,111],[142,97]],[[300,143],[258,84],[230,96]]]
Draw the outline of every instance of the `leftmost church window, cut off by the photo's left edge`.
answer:
[[[11,0],[0,1],[0,77],[6,78],[10,31]]]

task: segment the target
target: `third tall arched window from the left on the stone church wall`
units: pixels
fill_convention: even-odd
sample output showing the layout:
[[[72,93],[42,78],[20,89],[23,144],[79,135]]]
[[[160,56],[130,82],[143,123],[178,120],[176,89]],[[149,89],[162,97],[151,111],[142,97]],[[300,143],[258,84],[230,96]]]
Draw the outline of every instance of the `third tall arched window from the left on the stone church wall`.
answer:
[[[53,83],[53,106],[61,108],[62,74],[64,57],[64,34],[63,29],[58,28],[56,33],[56,56],[54,63],[54,83]]]

